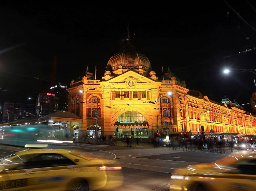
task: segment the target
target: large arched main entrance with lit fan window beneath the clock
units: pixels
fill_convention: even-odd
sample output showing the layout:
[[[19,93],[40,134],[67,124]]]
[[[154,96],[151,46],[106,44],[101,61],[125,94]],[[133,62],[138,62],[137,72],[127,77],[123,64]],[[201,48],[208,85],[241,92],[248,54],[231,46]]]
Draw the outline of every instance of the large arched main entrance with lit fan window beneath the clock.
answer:
[[[149,137],[147,120],[137,111],[126,111],[121,114],[115,121],[114,137],[125,138],[126,136],[129,138]]]

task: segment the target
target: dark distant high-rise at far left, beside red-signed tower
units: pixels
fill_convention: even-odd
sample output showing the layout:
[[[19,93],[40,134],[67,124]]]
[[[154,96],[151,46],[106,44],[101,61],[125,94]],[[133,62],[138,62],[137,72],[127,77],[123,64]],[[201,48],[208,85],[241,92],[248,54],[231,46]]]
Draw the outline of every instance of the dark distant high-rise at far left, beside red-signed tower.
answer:
[[[2,111],[3,123],[36,116],[33,103],[4,102]]]

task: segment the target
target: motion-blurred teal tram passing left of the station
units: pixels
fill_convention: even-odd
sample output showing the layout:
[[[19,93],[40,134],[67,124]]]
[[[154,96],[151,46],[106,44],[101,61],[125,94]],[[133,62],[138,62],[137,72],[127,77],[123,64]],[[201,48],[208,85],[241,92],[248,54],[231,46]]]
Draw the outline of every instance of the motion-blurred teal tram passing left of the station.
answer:
[[[73,141],[66,128],[59,125],[13,125],[0,129],[0,143],[15,146],[40,142],[62,143]]]

